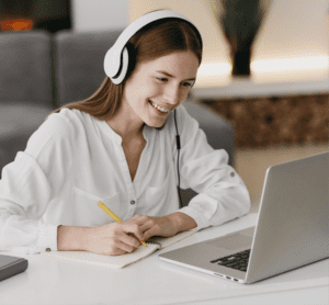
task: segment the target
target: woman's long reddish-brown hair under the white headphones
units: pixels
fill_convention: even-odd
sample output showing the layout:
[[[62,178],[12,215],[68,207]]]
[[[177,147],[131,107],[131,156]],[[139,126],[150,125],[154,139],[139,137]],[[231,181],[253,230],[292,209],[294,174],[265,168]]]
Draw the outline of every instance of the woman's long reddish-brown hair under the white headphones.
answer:
[[[87,112],[100,121],[111,118],[118,110],[125,81],[136,64],[152,60],[175,52],[189,50],[202,60],[202,45],[193,27],[183,20],[159,20],[140,29],[127,43],[129,65],[127,76],[121,84],[114,84],[106,77],[101,87],[87,100],[64,105]]]

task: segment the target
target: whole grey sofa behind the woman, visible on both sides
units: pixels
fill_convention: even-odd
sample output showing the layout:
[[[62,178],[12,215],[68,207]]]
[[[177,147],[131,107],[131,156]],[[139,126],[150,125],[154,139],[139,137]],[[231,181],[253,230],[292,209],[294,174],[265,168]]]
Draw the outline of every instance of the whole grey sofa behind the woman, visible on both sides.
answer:
[[[120,32],[43,31],[0,33],[0,172],[24,150],[29,137],[56,108],[90,97],[105,78],[103,58]],[[231,126],[206,106],[188,100],[215,148],[234,165]],[[1,177],[1,176],[0,176]],[[183,191],[183,202],[195,195]]]

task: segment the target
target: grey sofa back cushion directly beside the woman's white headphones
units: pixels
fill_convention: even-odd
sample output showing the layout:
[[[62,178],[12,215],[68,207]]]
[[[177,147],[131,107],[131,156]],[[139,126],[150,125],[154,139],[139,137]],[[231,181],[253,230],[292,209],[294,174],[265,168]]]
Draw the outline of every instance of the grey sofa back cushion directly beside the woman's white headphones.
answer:
[[[81,101],[93,94],[105,79],[104,56],[121,31],[55,35],[57,104]]]

